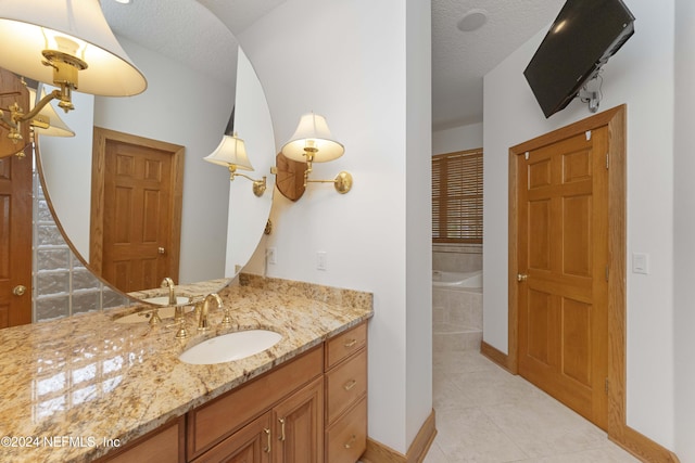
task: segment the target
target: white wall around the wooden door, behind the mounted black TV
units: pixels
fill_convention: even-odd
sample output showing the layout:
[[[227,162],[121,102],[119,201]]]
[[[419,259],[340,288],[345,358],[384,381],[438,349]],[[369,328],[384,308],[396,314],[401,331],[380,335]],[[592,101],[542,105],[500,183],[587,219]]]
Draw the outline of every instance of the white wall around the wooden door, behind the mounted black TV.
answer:
[[[650,257],[648,275],[628,274],[628,425],[672,449],[674,0],[626,4],[635,35],[605,66],[601,107],[628,104],[628,256]],[[521,73],[544,35],[484,79],[483,336],[505,352],[508,149],[591,115],[576,101],[543,117]]]

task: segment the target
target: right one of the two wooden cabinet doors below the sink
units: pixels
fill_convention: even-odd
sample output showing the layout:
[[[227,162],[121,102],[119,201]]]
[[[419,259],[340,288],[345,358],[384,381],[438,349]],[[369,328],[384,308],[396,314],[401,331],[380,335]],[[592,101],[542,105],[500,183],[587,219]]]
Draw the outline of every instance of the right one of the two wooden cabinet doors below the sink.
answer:
[[[274,463],[319,463],[324,456],[324,377],[288,397],[273,411]]]

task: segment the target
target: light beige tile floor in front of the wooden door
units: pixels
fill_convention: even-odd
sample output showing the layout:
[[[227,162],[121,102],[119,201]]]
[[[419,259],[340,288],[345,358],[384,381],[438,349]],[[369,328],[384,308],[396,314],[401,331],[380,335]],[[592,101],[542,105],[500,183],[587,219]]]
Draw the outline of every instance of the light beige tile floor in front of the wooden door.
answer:
[[[606,433],[476,350],[433,359],[438,435],[425,463],[622,463]]]

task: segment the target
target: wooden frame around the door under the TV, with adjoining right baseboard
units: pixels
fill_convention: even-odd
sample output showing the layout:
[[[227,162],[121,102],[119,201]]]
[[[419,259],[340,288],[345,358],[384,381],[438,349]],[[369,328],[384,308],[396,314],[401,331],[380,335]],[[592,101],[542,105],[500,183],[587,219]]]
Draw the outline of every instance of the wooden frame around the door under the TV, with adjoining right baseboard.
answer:
[[[678,462],[670,450],[627,425],[626,320],[627,320],[627,106],[620,105],[509,149],[509,370],[518,371],[517,308],[517,167],[518,156],[582,131],[608,127],[608,438],[647,462]],[[494,349],[494,348],[493,348]],[[495,349],[496,350],[496,349]],[[494,353],[493,353],[494,356]],[[494,361],[494,357],[493,357]],[[511,368],[514,365],[514,369]]]

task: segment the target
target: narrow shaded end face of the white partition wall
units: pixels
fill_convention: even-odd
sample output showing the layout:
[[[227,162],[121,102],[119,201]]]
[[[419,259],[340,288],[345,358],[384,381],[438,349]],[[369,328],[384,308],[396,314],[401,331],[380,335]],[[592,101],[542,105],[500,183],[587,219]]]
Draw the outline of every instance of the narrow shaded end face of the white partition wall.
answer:
[[[431,5],[406,4],[406,443],[431,412],[432,176]],[[425,91],[424,91],[425,90]],[[375,386],[379,384],[376,383]],[[424,400],[425,399],[425,400]]]

